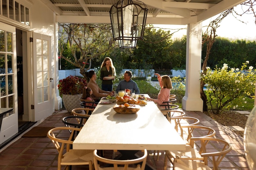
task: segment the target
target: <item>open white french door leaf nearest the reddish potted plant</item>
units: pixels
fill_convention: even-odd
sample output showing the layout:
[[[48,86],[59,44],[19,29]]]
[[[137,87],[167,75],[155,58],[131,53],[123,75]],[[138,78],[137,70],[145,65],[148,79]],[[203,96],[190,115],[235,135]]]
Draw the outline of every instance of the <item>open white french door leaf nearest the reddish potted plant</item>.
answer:
[[[33,33],[34,121],[52,115],[51,37]]]

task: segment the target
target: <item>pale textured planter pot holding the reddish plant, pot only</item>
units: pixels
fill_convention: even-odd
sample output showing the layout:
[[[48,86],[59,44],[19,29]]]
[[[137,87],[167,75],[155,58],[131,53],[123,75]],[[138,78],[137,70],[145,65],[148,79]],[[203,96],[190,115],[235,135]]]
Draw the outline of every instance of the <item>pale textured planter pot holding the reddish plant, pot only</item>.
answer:
[[[75,95],[63,94],[62,100],[63,100],[65,109],[68,112],[71,112],[72,109],[80,108],[81,101],[79,98],[81,98],[81,96],[82,96],[82,94],[75,94]]]

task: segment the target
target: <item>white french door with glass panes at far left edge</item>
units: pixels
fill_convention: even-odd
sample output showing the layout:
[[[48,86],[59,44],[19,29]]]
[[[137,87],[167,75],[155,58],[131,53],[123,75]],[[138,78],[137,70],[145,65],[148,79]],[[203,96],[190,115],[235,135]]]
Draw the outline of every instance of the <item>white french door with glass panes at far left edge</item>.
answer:
[[[16,28],[0,22],[0,107],[13,108],[1,120],[0,144],[18,133],[16,67]]]

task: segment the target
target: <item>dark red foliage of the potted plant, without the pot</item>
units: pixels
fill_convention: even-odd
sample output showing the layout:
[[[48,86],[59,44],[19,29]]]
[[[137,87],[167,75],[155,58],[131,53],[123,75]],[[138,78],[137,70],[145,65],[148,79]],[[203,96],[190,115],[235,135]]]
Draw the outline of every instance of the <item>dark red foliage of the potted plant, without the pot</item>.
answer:
[[[87,81],[85,78],[79,78],[76,76],[68,76],[60,80],[58,84],[58,89],[60,95],[63,94],[82,94],[83,87],[87,86]]]

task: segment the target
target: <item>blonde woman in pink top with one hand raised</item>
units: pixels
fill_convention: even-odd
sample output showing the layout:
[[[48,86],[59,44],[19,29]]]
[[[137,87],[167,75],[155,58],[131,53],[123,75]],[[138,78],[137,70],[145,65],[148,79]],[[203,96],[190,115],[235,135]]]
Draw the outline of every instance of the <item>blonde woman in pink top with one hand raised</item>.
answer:
[[[158,73],[155,73],[155,75],[157,76],[161,89],[158,93],[157,99],[147,98],[147,100],[155,102],[157,106],[160,107],[159,105],[162,105],[163,102],[169,101],[169,96],[173,85],[171,78],[168,75],[160,76]]]

